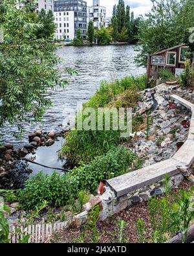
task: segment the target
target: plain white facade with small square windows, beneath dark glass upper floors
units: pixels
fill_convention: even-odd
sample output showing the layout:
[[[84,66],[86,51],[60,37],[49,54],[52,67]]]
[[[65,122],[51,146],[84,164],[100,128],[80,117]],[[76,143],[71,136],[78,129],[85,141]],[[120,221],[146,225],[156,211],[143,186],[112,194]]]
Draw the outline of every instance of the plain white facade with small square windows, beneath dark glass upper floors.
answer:
[[[57,40],[73,40],[74,39],[74,11],[54,12]]]

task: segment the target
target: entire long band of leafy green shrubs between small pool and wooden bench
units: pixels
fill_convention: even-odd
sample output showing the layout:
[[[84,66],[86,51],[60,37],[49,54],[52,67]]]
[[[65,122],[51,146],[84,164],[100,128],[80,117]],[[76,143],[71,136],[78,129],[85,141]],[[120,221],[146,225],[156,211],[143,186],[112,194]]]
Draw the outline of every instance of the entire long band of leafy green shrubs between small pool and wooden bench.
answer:
[[[88,194],[83,191],[87,189],[96,192],[100,180],[133,170],[137,160],[131,150],[118,146],[104,156],[96,157],[89,165],[74,168],[68,174],[54,172],[48,176],[39,172],[25,182],[23,190],[16,191],[15,194],[24,209],[39,207],[45,200],[51,207],[59,207],[71,204],[78,198],[80,205],[83,205]]]

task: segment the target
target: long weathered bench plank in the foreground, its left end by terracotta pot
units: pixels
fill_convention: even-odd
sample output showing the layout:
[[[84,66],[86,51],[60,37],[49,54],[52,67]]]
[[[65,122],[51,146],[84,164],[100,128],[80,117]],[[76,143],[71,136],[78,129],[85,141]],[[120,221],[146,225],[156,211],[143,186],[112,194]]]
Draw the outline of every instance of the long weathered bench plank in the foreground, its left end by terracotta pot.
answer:
[[[116,196],[123,196],[162,180],[166,174],[169,177],[178,174],[177,165],[184,165],[184,163],[172,158],[167,159],[155,165],[108,180],[107,185],[113,189]]]

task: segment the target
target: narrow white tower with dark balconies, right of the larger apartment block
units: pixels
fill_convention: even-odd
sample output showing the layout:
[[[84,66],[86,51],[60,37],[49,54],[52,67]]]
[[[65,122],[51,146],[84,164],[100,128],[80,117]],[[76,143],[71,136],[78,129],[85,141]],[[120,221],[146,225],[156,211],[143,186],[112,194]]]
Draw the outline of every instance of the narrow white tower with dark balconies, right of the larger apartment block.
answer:
[[[106,8],[100,6],[100,0],[93,0],[93,5],[89,6],[88,21],[93,21],[96,29],[106,26]]]

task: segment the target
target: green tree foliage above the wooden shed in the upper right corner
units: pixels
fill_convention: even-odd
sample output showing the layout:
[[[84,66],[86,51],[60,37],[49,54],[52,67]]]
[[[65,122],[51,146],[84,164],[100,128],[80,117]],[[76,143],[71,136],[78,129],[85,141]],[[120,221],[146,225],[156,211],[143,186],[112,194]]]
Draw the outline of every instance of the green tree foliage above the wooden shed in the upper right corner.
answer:
[[[146,65],[147,56],[160,49],[185,43],[185,35],[194,27],[193,0],[152,0],[153,8],[140,22],[140,53],[136,62]]]

